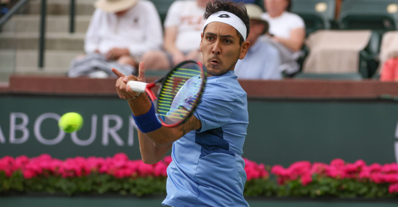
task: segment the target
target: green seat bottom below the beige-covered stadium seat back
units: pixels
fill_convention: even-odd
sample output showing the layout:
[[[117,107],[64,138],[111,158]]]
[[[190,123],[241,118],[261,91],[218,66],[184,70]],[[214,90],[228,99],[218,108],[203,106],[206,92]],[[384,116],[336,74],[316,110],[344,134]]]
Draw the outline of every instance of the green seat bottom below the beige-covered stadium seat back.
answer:
[[[296,79],[339,79],[339,80],[355,80],[360,81],[362,75],[359,73],[336,73],[336,74],[314,74],[314,73],[297,73]]]

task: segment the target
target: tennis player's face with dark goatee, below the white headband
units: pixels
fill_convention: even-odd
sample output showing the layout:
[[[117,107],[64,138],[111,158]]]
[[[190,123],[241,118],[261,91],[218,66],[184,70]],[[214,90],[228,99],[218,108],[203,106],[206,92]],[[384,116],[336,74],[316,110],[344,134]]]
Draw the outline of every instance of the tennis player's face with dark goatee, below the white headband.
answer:
[[[236,61],[246,56],[249,42],[239,44],[240,37],[231,25],[209,23],[201,34],[200,51],[209,75],[222,75],[234,70]]]

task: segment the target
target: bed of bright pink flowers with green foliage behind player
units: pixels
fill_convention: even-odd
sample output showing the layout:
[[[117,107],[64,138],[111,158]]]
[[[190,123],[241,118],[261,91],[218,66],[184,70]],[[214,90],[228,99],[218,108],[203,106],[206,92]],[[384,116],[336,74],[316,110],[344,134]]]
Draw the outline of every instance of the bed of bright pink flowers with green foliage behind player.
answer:
[[[361,160],[345,163],[335,159],[330,164],[300,161],[288,168],[280,165],[271,168],[244,160],[245,196],[398,197],[396,163],[367,166]],[[123,153],[64,161],[46,154],[31,159],[6,156],[0,159],[0,194],[165,195],[166,168],[171,161],[168,156],[159,163],[145,164],[141,160],[129,160]]]

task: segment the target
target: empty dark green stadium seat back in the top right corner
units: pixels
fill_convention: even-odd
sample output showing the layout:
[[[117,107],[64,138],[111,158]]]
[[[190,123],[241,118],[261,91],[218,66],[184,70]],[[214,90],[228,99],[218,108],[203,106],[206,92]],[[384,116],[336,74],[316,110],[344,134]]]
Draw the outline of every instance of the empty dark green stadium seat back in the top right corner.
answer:
[[[344,0],[340,29],[371,29],[380,35],[398,27],[398,0]]]

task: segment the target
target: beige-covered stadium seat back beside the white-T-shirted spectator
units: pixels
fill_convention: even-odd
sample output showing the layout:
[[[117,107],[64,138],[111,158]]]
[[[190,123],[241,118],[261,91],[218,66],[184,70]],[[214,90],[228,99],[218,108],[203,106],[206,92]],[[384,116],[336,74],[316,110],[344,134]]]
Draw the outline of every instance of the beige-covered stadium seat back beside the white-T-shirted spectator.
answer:
[[[363,78],[372,77],[378,66],[375,58],[378,55],[379,38],[377,32],[370,30],[317,31],[310,35],[306,43],[310,52],[302,72],[324,74],[358,72]]]

